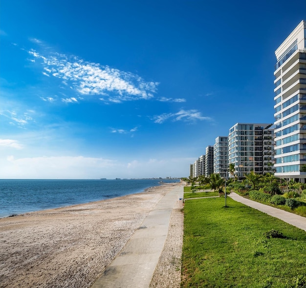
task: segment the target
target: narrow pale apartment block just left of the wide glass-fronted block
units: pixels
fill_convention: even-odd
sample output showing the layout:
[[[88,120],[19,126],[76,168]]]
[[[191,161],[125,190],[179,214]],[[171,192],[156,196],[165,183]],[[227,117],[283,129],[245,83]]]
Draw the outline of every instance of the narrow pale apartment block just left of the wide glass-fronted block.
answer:
[[[220,174],[224,179],[228,174],[228,137],[219,136],[214,144],[214,173]]]

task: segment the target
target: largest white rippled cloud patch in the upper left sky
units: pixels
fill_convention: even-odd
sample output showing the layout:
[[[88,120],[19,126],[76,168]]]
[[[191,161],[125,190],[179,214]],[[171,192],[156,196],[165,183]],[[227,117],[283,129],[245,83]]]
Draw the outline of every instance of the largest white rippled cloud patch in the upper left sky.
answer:
[[[150,99],[157,91],[157,82],[146,82],[130,72],[59,53],[42,55],[34,50],[28,53],[41,60],[44,75],[61,79],[82,95],[103,95],[104,100],[120,103]]]

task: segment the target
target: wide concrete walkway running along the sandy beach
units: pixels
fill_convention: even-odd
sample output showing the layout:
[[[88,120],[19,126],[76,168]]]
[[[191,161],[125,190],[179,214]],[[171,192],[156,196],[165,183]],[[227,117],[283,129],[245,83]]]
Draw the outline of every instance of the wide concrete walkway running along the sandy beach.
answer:
[[[183,186],[168,192],[151,210],[123,250],[91,288],[148,288],[164,247],[169,221]]]

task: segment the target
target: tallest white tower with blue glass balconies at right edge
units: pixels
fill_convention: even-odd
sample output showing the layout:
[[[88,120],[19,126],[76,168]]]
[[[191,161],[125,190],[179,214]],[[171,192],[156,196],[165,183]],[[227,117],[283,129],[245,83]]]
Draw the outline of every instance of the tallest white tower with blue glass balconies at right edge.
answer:
[[[306,179],[306,22],[275,51],[275,176]]]

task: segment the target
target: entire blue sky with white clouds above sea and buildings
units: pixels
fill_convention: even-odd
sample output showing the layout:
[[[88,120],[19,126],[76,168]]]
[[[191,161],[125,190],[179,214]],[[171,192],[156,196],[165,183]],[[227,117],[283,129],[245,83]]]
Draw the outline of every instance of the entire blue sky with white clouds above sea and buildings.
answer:
[[[274,51],[306,1],[1,0],[0,178],[187,177],[273,122]]]

